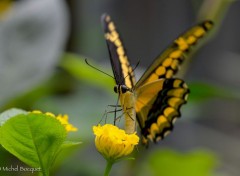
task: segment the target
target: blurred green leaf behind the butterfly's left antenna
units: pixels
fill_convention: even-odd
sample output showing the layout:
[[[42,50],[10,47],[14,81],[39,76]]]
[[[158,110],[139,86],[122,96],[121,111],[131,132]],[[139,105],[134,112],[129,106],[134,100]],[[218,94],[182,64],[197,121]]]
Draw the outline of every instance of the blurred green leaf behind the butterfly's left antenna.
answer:
[[[96,69],[93,69],[86,64],[84,59],[85,58],[80,57],[76,54],[65,53],[63,55],[60,66],[77,79],[86,81],[95,86],[103,87],[104,89],[112,92],[114,79],[109,78],[109,76],[97,71]],[[90,63],[101,70],[101,67],[94,63],[92,60]],[[112,71],[110,70],[107,70],[105,72],[109,73],[110,75],[112,74]]]

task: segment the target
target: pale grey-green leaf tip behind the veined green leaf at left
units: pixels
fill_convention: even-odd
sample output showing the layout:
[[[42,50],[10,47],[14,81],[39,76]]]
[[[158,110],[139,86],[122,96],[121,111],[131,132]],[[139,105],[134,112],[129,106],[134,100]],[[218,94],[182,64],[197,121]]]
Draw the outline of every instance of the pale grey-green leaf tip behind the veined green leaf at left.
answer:
[[[27,114],[27,111],[24,111],[22,109],[12,108],[2,112],[0,114],[0,126],[2,126],[11,117],[14,117],[18,114]]]

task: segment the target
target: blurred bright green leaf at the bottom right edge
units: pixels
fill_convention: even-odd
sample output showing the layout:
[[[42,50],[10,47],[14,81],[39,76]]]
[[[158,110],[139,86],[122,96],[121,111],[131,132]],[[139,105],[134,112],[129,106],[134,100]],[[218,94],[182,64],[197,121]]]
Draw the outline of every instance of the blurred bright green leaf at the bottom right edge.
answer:
[[[217,159],[208,151],[178,153],[172,150],[158,150],[145,159],[139,175],[148,172],[149,176],[210,176],[213,175],[216,163]]]

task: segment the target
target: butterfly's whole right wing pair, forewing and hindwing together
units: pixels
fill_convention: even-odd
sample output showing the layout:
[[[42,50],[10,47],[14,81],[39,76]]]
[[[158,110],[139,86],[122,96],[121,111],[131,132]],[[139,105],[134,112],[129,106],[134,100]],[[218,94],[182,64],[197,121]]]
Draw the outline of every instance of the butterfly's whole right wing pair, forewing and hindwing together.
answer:
[[[159,55],[136,84],[136,118],[143,135],[143,143],[157,141],[173,128],[180,117],[180,108],[187,101],[189,89],[184,81],[172,77],[187,54],[208,30],[211,21],[190,28]]]

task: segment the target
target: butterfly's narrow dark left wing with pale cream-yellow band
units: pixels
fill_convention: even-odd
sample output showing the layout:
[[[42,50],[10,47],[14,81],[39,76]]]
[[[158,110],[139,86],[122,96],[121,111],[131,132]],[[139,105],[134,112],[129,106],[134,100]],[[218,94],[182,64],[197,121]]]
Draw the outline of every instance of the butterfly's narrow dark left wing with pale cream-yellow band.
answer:
[[[120,34],[109,15],[102,15],[101,21],[116,84],[132,88],[136,83],[135,76],[127,58]]]

